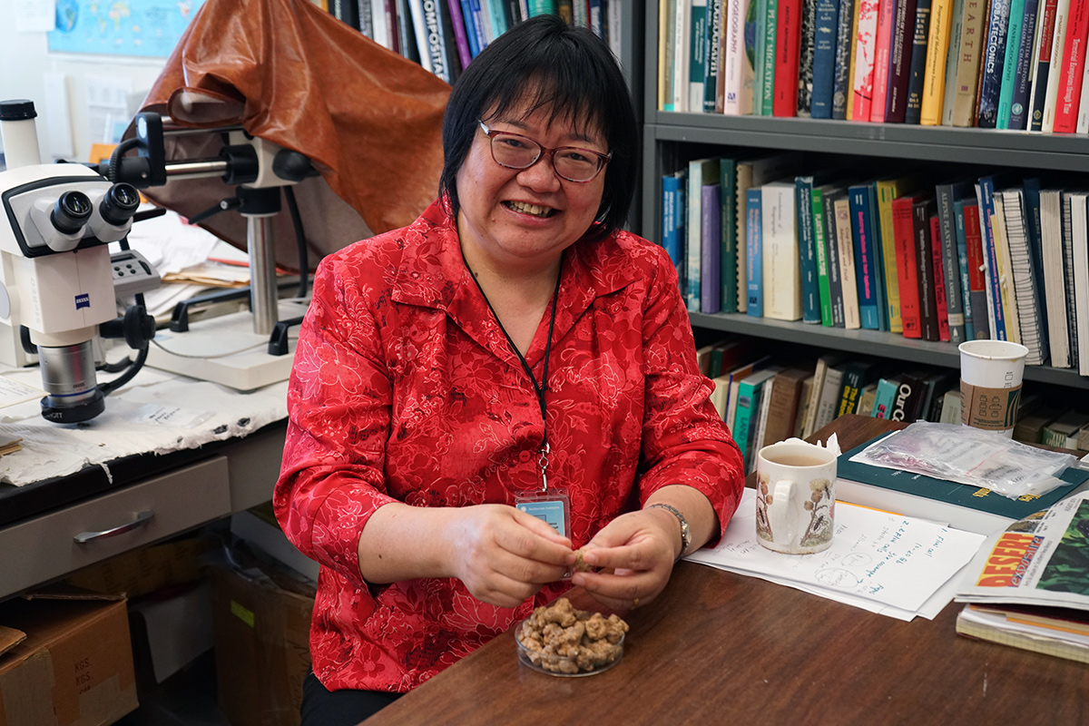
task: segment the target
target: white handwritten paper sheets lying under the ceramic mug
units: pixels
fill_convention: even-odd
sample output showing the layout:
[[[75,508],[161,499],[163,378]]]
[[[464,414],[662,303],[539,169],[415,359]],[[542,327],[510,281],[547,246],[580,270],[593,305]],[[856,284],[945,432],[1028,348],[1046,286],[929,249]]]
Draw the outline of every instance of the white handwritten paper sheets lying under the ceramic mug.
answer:
[[[933,619],[953,599],[957,574],[984,537],[932,521],[835,504],[832,546],[810,555],[764,549],[756,536],[756,492],[746,489],[722,541],[685,557],[759,577],[873,613]]]

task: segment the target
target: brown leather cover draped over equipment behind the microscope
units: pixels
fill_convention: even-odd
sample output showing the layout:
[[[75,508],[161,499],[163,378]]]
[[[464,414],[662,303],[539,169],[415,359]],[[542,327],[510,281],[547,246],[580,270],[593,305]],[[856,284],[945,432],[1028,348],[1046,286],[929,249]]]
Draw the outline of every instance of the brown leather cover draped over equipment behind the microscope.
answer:
[[[435,200],[450,86],[307,0],[207,0],[142,111],[175,124],[238,125],[309,158],[320,172],[295,185],[313,269],[330,251],[404,226]],[[134,135],[130,126],[125,138]],[[170,135],[167,162],[215,158],[219,134]],[[219,179],[169,181],[144,195],[192,217],[234,187]],[[245,249],[235,211],[200,224]],[[273,222],[280,267],[297,270],[284,209]]]

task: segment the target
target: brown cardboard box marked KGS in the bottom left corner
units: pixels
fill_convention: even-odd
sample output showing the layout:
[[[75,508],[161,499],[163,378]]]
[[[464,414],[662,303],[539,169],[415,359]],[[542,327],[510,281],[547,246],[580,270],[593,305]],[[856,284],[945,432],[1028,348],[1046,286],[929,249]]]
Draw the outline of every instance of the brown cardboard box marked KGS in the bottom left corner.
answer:
[[[136,709],[123,596],[11,600],[0,624],[26,633],[0,655],[0,726],[106,726]]]

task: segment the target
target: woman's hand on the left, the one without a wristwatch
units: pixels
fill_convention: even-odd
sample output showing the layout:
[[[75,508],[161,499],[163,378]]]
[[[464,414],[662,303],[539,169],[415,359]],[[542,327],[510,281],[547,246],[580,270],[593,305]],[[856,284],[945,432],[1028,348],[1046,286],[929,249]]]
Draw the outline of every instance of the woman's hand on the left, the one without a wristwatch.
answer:
[[[503,504],[462,507],[446,524],[449,566],[474,598],[515,607],[567,571],[571,540]]]

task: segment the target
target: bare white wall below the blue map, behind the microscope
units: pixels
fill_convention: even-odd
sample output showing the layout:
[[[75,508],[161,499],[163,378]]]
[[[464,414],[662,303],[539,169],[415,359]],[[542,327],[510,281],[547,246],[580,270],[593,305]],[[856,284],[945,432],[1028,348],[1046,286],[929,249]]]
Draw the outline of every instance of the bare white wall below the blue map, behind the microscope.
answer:
[[[95,124],[87,104],[88,85],[101,87],[101,79],[131,83],[132,103],[138,104],[162,72],[166,59],[50,53],[45,33],[16,32],[11,20],[16,4],[17,0],[0,0],[4,26],[0,36],[0,100],[34,101],[42,161],[58,157],[85,161],[91,143],[102,140],[90,136]],[[56,93],[50,93],[52,79],[60,82]]]

